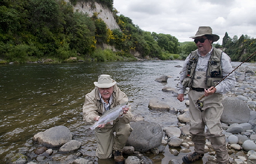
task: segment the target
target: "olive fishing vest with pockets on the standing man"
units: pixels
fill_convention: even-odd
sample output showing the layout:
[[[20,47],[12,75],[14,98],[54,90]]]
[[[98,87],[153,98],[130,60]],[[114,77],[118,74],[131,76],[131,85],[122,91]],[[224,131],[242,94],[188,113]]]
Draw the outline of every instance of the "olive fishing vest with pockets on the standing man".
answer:
[[[221,68],[221,56],[222,52],[219,49],[213,48],[211,57],[208,61],[207,71],[206,71],[206,85],[207,87],[215,86],[222,80],[222,68]],[[189,57],[189,62],[187,63],[186,77],[182,81],[184,87],[192,87],[193,79],[195,76],[195,70],[198,62],[197,50],[192,51]]]

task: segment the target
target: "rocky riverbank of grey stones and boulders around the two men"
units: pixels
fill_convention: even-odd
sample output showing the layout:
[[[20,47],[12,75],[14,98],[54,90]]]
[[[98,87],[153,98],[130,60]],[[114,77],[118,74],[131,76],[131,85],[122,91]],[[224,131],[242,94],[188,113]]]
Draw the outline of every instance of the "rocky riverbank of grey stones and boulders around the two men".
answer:
[[[235,75],[237,83],[234,90],[224,95],[223,105],[226,105],[227,116],[222,118],[222,122],[225,122],[222,127],[227,139],[229,156],[233,159],[233,163],[250,164],[256,162],[255,70],[242,67],[235,72]],[[175,89],[170,94],[176,94]],[[159,106],[158,103],[164,102],[162,100],[153,101],[155,108],[152,110],[162,109],[162,106]],[[186,104],[189,105],[188,102]],[[166,108],[166,106],[164,107]],[[131,123],[133,128],[148,131],[131,134],[133,139],[129,141],[130,145],[127,145],[124,149],[125,163],[153,163],[153,160],[145,156],[145,154],[161,154],[167,146],[172,155],[180,158],[183,157],[182,154],[189,153],[191,149],[193,150],[194,145],[188,132],[188,109],[176,110],[174,108],[168,109],[167,107],[167,110],[177,115],[179,120],[177,126],[159,128],[157,122],[150,124],[150,122],[143,121],[143,117],[135,116],[134,122]],[[143,128],[142,124],[146,124],[148,127]],[[155,129],[155,131],[149,129]],[[52,136],[52,138],[49,136]],[[155,137],[150,142],[145,140],[142,144],[144,147],[135,146],[138,143],[134,139],[145,138],[145,136],[150,136],[150,139]],[[9,163],[56,163],[53,157],[63,153],[71,154],[71,157],[67,157],[70,159],[67,159],[66,161],[68,162],[66,163],[100,163],[95,157],[83,156],[79,151],[81,143],[72,140],[72,135],[67,127],[59,126],[55,127],[55,129],[40,132],[34,135],[33,141],[40,146],[33,150],[30,149],[28,154],[10,155]],[[157,145],[153,145],[156,143]],[[206,155],[203,160],[207,161],[207,163],[215,163],[215,152],[209,141],[207,141],[205,150]],[[156,160],[154,159],[154,161]],[[159,160],[161,161],[161,159]],[[106,161],[104,162],[106,163]],[[108,162],[111,163],[111,161]],[[170,160],[169,163],[179,163],[179,161]]]

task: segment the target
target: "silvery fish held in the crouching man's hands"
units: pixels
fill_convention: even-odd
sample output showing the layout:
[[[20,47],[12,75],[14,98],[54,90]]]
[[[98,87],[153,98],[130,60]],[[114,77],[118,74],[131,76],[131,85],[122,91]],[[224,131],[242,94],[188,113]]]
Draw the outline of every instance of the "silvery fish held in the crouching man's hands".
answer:
[[[120,105],[117,105],[116,107],[113,107],[111,110],[106,111],[100,118],[98,121],[96,121],[91,127],[90,129],[95,129],[96,127],[98,127],[101,124],[107,124],[108,122],[110,122],[111,125],[113,125],[113,120],[117,119],[118,117],[120,117],[120,115],[123,114],[123,108],[127,108],[129,107],[128,102],[124,102]],[[121,116],[122,117],[122,116]]]

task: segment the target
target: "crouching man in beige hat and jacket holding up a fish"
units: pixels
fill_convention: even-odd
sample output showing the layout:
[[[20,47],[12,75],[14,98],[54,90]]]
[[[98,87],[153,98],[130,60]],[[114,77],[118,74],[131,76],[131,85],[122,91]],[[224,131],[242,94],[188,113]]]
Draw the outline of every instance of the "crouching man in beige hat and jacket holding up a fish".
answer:
[[[94,124],[105,111],[128,101],[126,94],[117,87],[116,81],[110,75],[100,75],[94,85],[95,89],[85,95],[83,119],[86,124]],[[113,155],[116,163],[124,163],[122,149],[132,132],[129,124],[131,120],[132,113],[129,106],[125,108],[122,117],[113,121],[113,125],[108,123],[95,128],[98,146],[96,156],[99,159],[108,159]]]

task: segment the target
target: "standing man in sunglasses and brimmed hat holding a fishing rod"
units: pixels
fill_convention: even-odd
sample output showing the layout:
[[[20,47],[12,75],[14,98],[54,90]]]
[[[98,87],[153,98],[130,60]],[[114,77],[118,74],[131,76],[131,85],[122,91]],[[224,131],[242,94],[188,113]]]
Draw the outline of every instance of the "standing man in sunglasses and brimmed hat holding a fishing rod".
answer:
[[[235,85],[234,73],[227,76],[219,85],[215,86],[223,77],[232,72],[231,59],[223,51],[212,46],[219,40],[219,36],[212,34],[209,26],[200,26],[194,38],[198,49],[192,51],[183,65],[178,84],[177,99],[184,101],[184,92],[189,88],[189,115],[192,141],[195,152],[182,158],[185,163],[192,163],[204,155],[206,139],[216,151],[219,164],[230,163],[226,149],[225,135],[221,128],[221,114],[223,112],[222,94],[231,90]],[[204,103],[202,110],[196,108],[195,102],[202,96]],[[207,131],[204,132],[205,127]]]

